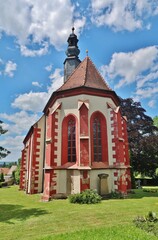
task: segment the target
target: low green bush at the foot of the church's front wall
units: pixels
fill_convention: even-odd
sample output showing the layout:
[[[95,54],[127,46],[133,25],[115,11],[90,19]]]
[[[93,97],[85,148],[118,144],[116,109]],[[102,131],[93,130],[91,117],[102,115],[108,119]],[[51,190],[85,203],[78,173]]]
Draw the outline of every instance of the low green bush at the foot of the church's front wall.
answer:
[[[101,202],[101,196],[92,189],[69,196],[70,203],[95,204]]]

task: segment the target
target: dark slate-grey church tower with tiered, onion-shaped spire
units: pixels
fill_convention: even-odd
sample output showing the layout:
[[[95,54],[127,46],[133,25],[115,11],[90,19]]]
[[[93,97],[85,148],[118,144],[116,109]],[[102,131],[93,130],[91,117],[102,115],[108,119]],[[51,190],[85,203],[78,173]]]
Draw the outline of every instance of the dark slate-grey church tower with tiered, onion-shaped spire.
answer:
[[[73,27],[72,33],[70,34],[67,40],[68,48],[66,50],[67,58],[64,61],[64,82],[67,81],[68,77],[81,62],[80,59],[78,58],[80,50],[77,46],[78,39],[77,36],[74,34],[74,30],[75,29]]]

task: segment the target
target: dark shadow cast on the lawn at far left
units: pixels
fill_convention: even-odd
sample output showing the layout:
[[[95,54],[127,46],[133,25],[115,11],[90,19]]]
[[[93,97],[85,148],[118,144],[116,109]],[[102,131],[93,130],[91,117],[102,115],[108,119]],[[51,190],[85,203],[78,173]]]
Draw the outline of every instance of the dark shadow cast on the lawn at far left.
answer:
[[[12,220],[24,221],[30,217],[48,214],[46,210],[38,208],[25,209],[22,205],[0,204],[0,222],[14,224]]]

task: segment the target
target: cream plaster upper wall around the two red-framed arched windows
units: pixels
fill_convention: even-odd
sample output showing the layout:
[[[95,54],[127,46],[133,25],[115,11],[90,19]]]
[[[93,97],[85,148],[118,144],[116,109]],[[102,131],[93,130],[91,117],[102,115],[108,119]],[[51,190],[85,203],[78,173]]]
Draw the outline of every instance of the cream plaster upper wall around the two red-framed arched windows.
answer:
[[[69,114],[73,114],[79,119],[79,110],[78,110],[78,101],[85,101],[89,100],[89,133],[90,133],[90,117],[93,112],[95,111],[100,111],[102,114],[104,114],[106,121],[107,121],[107,132],[108,132],[108,156],[109,156],[109,164],[112,165],[113,163],[113,151],[112,151],[112,136],[111,136],[111,120],[110,120],[110,112],[107,107],[107,103],[111,103],[113,106],[116,107],[115,103],[111,98],[103,98],[103,97],[98,97],[98,96],[91,96],[91,95],[77,95],[77,96],[72,96],[72,97],[66,97],[62,99],[58,99],[57,101],[59,103],[62,103],[60,114],[59,114],[59,129],[58,129],[58,136],[59,136],[59,141],[57,143],[57,155],[58,155],[58,165],[61,164],[61,131],[62,131],[62,121],[64,117],[66,117]],[[56,105],[57,102],[54,103]],[[53,108],[53,106],[52,106]],[[80,125],[78,121],[78,136],[80,132]],[[80,149],[80,142],[79,144],[79,149]],[[90,149],[90,141],[89,141],[89,149]],[[89,154],[91,154],[91,151],[89,151]],[[91,159],[91,156],[90,156]],[[80,159],[79,159],[80,162]]]

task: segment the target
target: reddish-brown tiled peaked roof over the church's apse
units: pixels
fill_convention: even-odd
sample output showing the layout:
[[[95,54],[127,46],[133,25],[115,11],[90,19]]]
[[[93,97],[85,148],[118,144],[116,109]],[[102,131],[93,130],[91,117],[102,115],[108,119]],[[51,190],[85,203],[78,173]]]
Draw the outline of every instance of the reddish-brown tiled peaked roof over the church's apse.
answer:
[[[67,81],[57,91],[82,86],[111,91],[88,56],[78,65]]]

